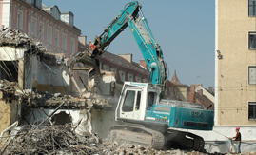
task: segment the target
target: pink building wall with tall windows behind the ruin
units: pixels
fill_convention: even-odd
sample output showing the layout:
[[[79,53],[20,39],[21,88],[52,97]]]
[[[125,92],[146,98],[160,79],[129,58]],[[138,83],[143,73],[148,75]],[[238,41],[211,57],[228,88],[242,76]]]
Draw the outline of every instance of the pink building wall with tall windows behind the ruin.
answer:
[[[0,0],[2,2],[3,0]],[[18,0],[12,0],[12,3],[10,4],[11,7],[11,22],[10,22],[10,29],[18,29],[18,10],[19,8],[22,10],[22,20],[23,20],[23,26],[22,29],[19,29],[20,31],[28,34],[31,36],[31,20],[32,20],[32,14],[34,14],[34,17],[36,19],[36,36],[32,36],[36,41],[40,41],[45,47],[48,47],[50,45],[50,52],[55,53],[55,49],[57,48],[59,50],[58,53],[63,53],[62,48],[62,37],[63,37],[63,30],[67,30],[67,50],[64,52],[67,57],[70,58],[71,55],[71,36],[74,36],[74,52],[78,51],[78,36],[81,34],[81,31],[79,29],[75,29],[74,27],[70,26],[69,24],[66,24],[62,22],[59,19],[54,18],[52,15],[50,15],[48,12],[38,9],[36,7],[33,7],[29,3],[25,1],[18,1]],[[55,6],[56,7],[56,6]],[[0,4],[0,15],[3,16],[3,4]],[[44,39],[40,40],[39,33],[40,33],[40,19],[43,18],[44,23]],[[52,23],[52,29],[51,29],[51,43],[49,44],[47,41],[47,35],[48,35],[48,23]],[[2,18],[0,18],[0,24],[2,26]],[[59,46],[55,46],[55,31],[56,28],[59,28]]]

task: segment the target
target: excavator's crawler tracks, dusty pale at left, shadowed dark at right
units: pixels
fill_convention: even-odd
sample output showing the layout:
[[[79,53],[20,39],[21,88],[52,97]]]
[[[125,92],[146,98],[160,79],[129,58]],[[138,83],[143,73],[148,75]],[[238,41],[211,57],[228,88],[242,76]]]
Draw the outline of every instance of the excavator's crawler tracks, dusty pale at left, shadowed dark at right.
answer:
[[[169,129],[167,133],[140,126],[110,126],[108,138],[117,142],[150,145],[154,149],[185,148],[204,151],[204,139],[195,134]]]

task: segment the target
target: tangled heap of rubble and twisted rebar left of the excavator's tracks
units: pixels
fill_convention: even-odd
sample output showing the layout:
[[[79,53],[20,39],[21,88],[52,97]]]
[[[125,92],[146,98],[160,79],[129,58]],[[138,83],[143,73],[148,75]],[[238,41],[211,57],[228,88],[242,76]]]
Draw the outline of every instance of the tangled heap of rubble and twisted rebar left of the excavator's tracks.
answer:
[[[39,126],[23,129],[4,154],[101,154],[100,138],[89,132],[78,135],[66,126]]]

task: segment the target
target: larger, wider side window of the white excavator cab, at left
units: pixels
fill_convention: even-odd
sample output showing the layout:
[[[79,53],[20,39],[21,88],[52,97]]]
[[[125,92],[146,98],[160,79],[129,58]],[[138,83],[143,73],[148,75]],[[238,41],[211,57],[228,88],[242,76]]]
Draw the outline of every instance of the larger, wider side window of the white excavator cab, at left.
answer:
[[[128,90],[122,110],[125,112],[133,111],[134,99],[135,99],[135,91]]]

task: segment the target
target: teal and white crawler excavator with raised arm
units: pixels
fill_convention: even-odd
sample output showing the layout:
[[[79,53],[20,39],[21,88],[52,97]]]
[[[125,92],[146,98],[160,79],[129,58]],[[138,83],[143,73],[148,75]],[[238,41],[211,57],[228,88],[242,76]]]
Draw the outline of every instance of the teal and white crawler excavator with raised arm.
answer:
[[[200,104],[165,99],[167,64],[141,8],[139,2],[129,2],[104,32],[95,36],[89,56],[78,53],[72,66],[75,62],[84,62],[96,68],[90,76],[98,73],[97,56],[104,53],[116,36],[129,28],[146,60],[149,83],[124,83],[115,110],[118,125],[109,127],[108,138],[150,145],[155,149],[179,147],[203,151],[204,139],[187,132],[187,129],[212,130],[214,113]]]

